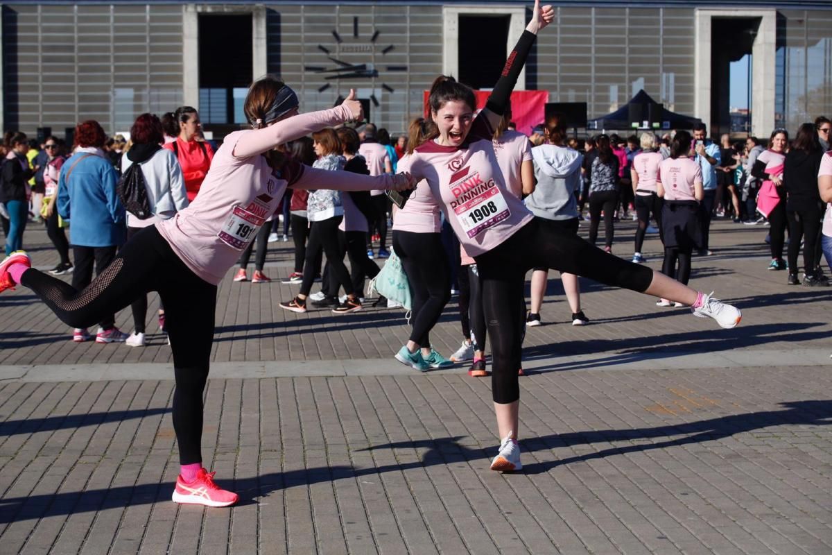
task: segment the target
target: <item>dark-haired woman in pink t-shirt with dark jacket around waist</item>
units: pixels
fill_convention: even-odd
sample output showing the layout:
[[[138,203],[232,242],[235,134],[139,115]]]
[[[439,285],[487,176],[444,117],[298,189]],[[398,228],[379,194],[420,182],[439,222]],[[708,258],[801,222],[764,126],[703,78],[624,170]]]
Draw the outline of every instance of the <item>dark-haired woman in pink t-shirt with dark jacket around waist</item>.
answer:
[[[687,285],[691,279],[691,254],[701,245],[699,203],[702,201],[702,168],[691,160],[691,134],[679,131],[671,142],[671,157],[659,164],[656,194],[664,199],[661,225],[664,228],[665,260],[661,271]],[[660,155],[661,156],[661,155]],[[678,270],[676,265],[678,264]],[[661,298],[657,306],[671,306]],[[684,306],[680,302],[676,306]]]

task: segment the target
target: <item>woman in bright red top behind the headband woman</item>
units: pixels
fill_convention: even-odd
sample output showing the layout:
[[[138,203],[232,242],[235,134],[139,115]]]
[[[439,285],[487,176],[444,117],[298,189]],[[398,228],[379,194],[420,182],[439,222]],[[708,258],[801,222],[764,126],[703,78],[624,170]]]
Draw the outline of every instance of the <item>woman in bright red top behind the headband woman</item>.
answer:
[[[165,148],[176,154],[182,166],[188,201],[193,201],[196,193],[200,192],[202,180],[206,178],[210,161],[214,159],[214,149],[206,141],[199,140],[201,123],[196,108],[178,107],[174,117],[179,124],[179,136],[176,141],[166,143]]]

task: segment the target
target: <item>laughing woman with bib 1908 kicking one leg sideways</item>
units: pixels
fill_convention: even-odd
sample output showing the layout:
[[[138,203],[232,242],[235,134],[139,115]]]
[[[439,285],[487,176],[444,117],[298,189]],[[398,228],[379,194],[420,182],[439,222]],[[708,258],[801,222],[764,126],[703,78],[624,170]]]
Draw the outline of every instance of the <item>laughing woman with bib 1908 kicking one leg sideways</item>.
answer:
[[[725,328],[740,321],[740,311],[711,295],[697,293],[643,265],[604,253],[579,237],[556,235],[536,223],[522,201],[508,193],[492,143],[493,129],[508,103],[537,32],[554,18],[552,7],[538,1],[532,21],[509,54],[486,107],[474,117],[473,91],[450,77],[431,87],[428,107],[436,129],[414,141],[409,169],[414,180],[427,181],[468,255],[477,261],[492,343],[492,394],[502,443],[491,468],[522,468],[517,443],[518,369],[521,362],[524,278],[535,266],[583,275],[607,285],[677,300],[696,315]],[[440,252],[437,253],[439,255]],[[418,360],[419,345],[409,341],[399,356]]]

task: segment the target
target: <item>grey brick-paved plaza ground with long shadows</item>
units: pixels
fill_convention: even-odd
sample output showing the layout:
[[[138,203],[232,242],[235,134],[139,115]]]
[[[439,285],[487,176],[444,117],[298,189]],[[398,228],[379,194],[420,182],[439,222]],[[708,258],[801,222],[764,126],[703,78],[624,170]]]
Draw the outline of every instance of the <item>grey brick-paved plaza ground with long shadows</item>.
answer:
[[[631,255],[634,225],[613,252]],[[586,235],[586,226],[582,227]],[[689,310],[559,280],[529,329],[524,468],[488,470],[490,379],[393,359],[402,310],[280,310],[270,284],[220,285],[203,454],[231,509],[171,502],[171,351],[73,344],[31,291],[0,295],[0,553],[832,553],[832,288],[766,271],[762,226],[718,221],[691,285],[731,300],[721,330]],[[34,265],[57,256],[40,226]],[[661,265],[648,235],[648,265]],[[557,276],[557,272],[552,272]],[[151,315],[156,295],[150,295]],[[454,297],[431,339],[458,347]],[[130,331],[130,310],[117,325]]]

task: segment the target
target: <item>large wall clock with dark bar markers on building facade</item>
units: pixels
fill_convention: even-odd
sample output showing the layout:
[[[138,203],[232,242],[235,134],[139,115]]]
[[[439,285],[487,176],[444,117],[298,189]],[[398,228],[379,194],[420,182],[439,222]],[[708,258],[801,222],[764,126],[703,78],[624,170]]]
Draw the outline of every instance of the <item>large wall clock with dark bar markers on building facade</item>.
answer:
[[[319,58],[323,65],[319,66],[304,66],[305,71],[319,73],[324,76],[326,81],[342,80],[356,81],[361,79],[376,79],[382,77],[384,72],[406,72],[407,66],[389,66],[384,63],[373,63],[373,59],[378,59],[376,52],[380,52],[381,58],[395,49],[393,44],[386,47],[379,47],[379,35],[381,32],[374,30],[370,37],[359,37],[359,18],[353,17],[353,36],[344,38],[338,29],[332,30],[332,37],[334,42],[328,44],[319,44],[314,49],[314,57]],[[349,54],[354,57],[354,54],[363,55],[367,58],[367,62],[345,62],[341,59],[344,54]],[[376,54],[374,56],[374,54]],[[383,78],[383,77],[382,77]],[[322,87],[318,88],[318,92],[324,92],[332,84],[327,82]],[[381,88],[387,92],[394,92],[394,88],[387,83],[382,82]],[[375,95],[370,95],[370,101],[374,106],[379,106],[379,99]]]

